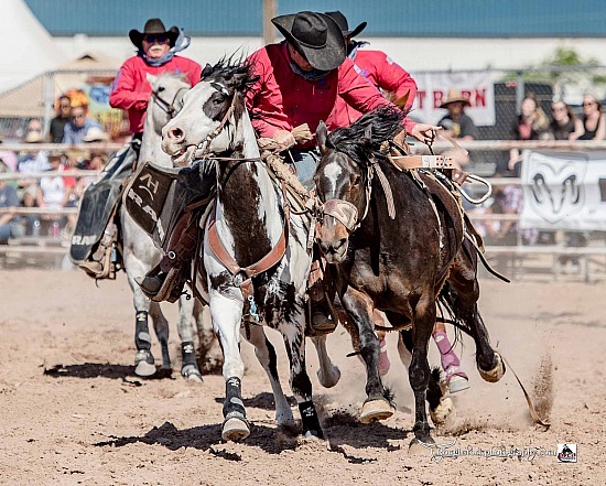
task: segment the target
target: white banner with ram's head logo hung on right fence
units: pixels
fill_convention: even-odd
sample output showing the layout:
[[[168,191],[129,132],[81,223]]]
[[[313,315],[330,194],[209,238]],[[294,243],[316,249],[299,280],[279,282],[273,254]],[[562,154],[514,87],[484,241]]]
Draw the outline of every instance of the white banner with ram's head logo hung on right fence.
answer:
[[[606,230],[606,152],[523,151],[522,228]]]

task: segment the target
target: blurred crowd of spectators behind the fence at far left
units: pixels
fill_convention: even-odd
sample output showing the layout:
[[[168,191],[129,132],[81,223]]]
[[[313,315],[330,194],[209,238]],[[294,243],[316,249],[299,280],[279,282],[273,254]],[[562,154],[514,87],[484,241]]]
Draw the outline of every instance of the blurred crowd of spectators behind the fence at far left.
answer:
[[[40,208],[18,214],[0,213],[0,244],[23,236],[50,236],[59,239],[68,236],[75,226],[75,214],[53,214],[46,209],[77,207],[84,188],[94,176],[73,177],[58,175],[67,170],[99,171],[107,163],[105,152],[74,150],[73,145],[109,140],[100,123],[87,114],[86,106],[72,106],[67,96],[56,104],[56,116],[50,125],[48,136],[43,136],[42,122],[29,120],[22,142],[31,145],[58,143],[65,148],[42,150],[31,148],[21,152],[0,150],[0,174],[19,174],[19,179],[0,180],[0,208]],[[32,176],[48,172],[48,175]]]

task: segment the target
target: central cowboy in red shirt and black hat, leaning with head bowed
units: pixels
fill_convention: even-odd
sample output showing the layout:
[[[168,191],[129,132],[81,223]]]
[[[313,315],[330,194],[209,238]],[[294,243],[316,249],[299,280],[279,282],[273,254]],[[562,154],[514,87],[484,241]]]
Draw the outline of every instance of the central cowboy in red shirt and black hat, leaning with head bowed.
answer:
[[[358,74],[346,56],[343,33],[331,17],[300,12],[277,17],[272,22],[285,40],[260,48],[247,60],[259,76],[247,94],[247,106],[261,137],[294,147],[291,155],[299,180],[311,188],[317,165],[315,139],[310,137],[296,144],[292,129],[307,123],[313,133],[321,120],[326,120],[329,130],[349,126],[331,117],[339,97],[361,112],[390,101]],[[405,118],[403,128],[426,141],[433,138],[436,127]]]

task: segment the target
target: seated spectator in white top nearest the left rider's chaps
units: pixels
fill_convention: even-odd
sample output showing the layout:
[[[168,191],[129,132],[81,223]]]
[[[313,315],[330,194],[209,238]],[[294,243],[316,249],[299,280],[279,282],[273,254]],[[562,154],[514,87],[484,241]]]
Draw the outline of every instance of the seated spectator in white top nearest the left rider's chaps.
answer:
[[[40,187],[36,193],[37,206],[41,208],[62,209],[64,207],[74,207],[71,195],[74,192],[76,181],[74,177],[64,177],[56,174],[65,170],[63,166],[63,152],[53,151],[48,154],[48,162],[53,174],[48,174],[40,180]],[[72,203],[72,204],[71,204]],[[43,220],[59,222],[66,218],[62,215],[47,214],[42,216]],[[57,235],[55,235],[57,236]]]

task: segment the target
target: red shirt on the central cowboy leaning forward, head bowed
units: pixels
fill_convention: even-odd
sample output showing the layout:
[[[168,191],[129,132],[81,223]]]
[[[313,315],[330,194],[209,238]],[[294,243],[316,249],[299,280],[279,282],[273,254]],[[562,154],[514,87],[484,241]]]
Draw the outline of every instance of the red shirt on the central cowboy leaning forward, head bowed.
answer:
[[[247,93],[246,102],[251,112],[252,126],[260,137],[272,138],[277,130],[292,130],[307,123],[315,132],[321,120],[329,130],[344,125],[331,116],[337,96],[361,112],[388,105],[381,94],[346,58],[337,68],[316,80],[307,80],[295,74],[290,66],[286,43],[270,44],[248,57],[252,74],[259,79]],[[349,123],[345,125],[348,126]],[[414,121],[405,119],[411,129]],[[315,140],[304,147],[313,147]]]

